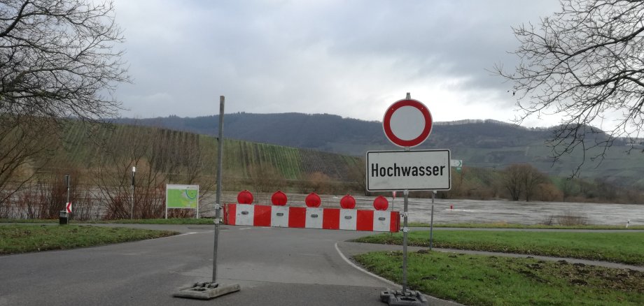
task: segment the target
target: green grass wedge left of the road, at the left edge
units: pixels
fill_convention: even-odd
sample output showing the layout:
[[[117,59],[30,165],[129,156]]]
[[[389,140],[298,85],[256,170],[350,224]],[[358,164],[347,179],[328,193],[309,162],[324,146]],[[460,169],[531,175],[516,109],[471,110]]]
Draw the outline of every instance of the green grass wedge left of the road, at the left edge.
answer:
[[[174,231],[95,226],[8,224],[0,226],[0,254],[73,249],[176,235]]]

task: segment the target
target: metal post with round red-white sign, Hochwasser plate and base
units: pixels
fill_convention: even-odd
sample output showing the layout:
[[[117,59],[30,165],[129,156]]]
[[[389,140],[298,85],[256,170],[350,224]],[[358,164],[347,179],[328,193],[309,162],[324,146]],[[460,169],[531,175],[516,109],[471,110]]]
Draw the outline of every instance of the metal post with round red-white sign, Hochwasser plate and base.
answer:
[[[429,136],[433,119],[428,108],[412,100],[407,93],[403,100],[393,103],[385,112],[385,136],[404,151],[367,152],[367,190],[395,191],[405,194],[402,208],[402,291],[382,291],[380,300],[390,306],[427,305],[419,291],[407,288],[407,235],[409,233],[409,190],[449,190],[449,150],[410,151]]]

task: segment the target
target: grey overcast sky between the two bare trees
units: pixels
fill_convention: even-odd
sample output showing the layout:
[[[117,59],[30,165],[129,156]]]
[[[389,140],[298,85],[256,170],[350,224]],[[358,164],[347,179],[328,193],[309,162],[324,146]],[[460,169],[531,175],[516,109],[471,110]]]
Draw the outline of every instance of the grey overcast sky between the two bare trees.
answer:
[[[410,92],[437,122],[515,115],[512,26],[538,23],[558,0],[117,0],[134,82],[123,117],[226,112],[328,113],[381,121]],[[550,126],[534,118],[526,126]]]

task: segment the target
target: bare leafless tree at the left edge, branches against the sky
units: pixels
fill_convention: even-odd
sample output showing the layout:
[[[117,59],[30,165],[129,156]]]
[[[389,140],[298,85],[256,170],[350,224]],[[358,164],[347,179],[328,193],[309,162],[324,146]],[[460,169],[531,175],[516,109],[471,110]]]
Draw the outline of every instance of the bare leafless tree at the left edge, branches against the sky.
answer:
[[[111,2],[0,0],[0,203],[57,149],[64,119],[116,115],[129,77],[113,15]]]

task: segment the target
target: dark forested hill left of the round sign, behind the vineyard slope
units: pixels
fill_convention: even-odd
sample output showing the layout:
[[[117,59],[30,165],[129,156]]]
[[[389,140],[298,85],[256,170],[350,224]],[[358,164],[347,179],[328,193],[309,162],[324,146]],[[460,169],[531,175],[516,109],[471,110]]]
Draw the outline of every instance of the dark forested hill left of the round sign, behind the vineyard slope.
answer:
[[[153,119],[118,119],[118,123],[159,126],[216,136],[219,116]],[[365,145],[386,139],[379,122],[342,118],[337,115],[249,114],[238,112],[224,117],[224,136],[258,143],[271,143],[326,152],[360,155]],[[344,145],[348,144],[348,145]]]

